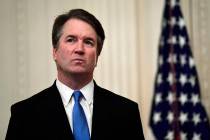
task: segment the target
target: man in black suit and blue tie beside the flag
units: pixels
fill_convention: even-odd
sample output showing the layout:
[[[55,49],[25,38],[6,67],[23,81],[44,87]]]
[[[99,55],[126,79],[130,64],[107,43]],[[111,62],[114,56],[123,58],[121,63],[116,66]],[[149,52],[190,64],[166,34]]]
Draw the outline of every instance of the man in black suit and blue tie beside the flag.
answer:
[[[55,19],[57,80],[11,107],[6,140],[144,140],[137,103],[93,80],[104,39],[100,22],[85,10],[73,9]]]

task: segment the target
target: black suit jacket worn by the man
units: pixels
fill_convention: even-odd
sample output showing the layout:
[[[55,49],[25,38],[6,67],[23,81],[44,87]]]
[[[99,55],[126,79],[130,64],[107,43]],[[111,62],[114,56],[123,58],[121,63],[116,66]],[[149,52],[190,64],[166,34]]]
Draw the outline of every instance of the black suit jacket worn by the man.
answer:
[[[138,105],[95,84],[91,140],[144,140]],[[11,107],[6,140],[73,140],[55,83]]]

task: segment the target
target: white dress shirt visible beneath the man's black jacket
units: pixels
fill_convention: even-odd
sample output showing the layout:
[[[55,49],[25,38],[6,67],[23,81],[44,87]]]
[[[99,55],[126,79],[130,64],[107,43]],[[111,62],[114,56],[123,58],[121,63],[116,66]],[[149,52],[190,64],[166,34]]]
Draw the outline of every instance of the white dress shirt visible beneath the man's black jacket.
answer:
[[[73,99],[72,94],[74,90],[64,85],[59,80],[56,80],[56,86],[61,95],[61,99],[63,101],[63,105],[64,105],[64,108],[65,108],[65,111],[69,120],[69,124],[73,132],[72,111],[73,111],[73,106],[74,106],[74,99]],[[81,99],[80,104],[85,112],[85,116],[86,116],[88,127],[89,127],[89,132],[91,134],[92,114],[93,114],[93,91],[94,91],[93,80],[79,90],[82,92],[84,96],[84,98]]]

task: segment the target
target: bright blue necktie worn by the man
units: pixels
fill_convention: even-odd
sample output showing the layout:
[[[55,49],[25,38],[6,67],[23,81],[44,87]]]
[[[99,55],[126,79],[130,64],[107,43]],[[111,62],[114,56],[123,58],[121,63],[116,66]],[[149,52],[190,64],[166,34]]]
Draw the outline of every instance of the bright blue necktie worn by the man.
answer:
[[[80,91],[74,91],[73,107],[73,135],[75,140],[90,140],[87,120],[84,110],[80,104],[80,98],[83,96]]]

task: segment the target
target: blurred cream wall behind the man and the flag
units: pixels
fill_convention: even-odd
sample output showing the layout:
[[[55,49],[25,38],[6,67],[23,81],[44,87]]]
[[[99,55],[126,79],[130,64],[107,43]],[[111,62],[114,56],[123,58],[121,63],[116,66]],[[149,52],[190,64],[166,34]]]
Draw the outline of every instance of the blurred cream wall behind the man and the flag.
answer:
[[[106,39],[96,82],[139,104],[145,138],[148,125],[164,0],[0,0],[0,140],[10,106],[52,85],[51,29],[55,17],[84,8],[102,23]],[[202,102],[210,116],[210,1],[181,0],[198,70]]]

